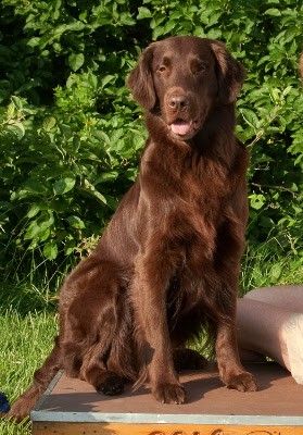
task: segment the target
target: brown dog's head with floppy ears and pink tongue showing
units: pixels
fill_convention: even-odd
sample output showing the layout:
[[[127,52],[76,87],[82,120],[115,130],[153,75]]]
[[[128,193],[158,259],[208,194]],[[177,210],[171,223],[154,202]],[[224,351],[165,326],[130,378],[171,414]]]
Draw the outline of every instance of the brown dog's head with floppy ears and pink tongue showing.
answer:
[[[151,44],[128,77],[135,99],[157,113],[172,136],[188,140],[203,127],[210,110],[232,103],[243,67],[223,42],[177,36]]]

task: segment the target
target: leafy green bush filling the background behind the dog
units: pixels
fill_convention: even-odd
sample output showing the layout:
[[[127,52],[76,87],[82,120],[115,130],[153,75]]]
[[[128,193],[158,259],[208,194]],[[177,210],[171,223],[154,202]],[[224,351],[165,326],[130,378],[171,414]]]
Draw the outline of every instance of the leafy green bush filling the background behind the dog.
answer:
[[[238,135],[251,150],[249,240],[269,237],[273,249],[278,240],[299,254],[301,1],[2,0],[0,16],[7,276],[33,264],[60,269],[93,244],[136,176],[146,138],[125,78],[151,40],[182,34],[224,40],[244,64]]]

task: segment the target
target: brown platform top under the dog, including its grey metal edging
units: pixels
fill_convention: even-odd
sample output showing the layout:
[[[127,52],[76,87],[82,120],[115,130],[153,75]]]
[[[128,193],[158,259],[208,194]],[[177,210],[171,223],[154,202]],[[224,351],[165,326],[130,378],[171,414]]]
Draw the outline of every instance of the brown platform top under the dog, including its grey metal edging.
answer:
[[[184,373],[184,405],[157,402],[149,388],[118,396],[99,395],[88,383],[63,375],[33,411],[33,421],[126,424],[302,425],[303,387],[276,364],[254,364],[260,389],[239,393],[226,388],[216,370]]]

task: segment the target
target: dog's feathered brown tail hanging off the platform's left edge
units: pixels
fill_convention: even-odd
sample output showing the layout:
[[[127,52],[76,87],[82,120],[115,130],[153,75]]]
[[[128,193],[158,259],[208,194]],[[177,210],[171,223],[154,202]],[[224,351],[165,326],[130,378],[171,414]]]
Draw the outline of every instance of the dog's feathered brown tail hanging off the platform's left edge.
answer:
[[[33,384],[13,403],[7,418],[20,422],[28,417],[37,400],[41,394],[45,393],[49,383],[61,368],[61,351],[59,337],[56,337],[51,353],[46,359],[42,366],[35,372]]]

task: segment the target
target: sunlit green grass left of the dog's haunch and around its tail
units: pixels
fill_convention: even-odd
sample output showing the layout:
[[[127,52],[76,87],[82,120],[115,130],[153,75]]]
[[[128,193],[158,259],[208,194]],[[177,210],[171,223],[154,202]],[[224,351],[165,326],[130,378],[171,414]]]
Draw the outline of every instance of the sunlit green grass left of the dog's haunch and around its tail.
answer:
[[[29,384],[35,370],[50,351],[56,315],[46,311],[21,314],[10,308],[1,312],[0,324],[0,389],[12,402]],[[0,435],[11,434],[30,434],[30,425],[0,421]]]

